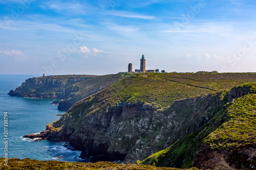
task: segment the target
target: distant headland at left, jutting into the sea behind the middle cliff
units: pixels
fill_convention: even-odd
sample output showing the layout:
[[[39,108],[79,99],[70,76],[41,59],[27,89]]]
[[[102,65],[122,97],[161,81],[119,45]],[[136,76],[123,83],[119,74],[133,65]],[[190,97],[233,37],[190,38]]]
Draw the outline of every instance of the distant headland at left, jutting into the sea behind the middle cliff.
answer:
[[[56,101],[58,109],[67,111],[75,103],[120,81],[130,74],[104,76],[68,75],[31,78],[22,86],[11,90],[11,96],[62,99]]]

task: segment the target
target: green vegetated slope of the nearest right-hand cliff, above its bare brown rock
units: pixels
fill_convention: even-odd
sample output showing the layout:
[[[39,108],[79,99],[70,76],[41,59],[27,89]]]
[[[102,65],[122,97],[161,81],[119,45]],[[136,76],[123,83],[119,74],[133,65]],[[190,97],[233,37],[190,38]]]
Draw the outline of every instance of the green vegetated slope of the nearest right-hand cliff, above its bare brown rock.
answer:
[[[256,84],[245,84],[255,92]],[[225,103],[225,100],[223,101]],[[256,94],[247,94],[233,103],[223,106],[201,132],[191,133],[169,148],[155,153],[142,164],[156,166],[180,165],[182,168],[193,164],[193,155],[199,144],[208,144],[211,150],[256,146]]]

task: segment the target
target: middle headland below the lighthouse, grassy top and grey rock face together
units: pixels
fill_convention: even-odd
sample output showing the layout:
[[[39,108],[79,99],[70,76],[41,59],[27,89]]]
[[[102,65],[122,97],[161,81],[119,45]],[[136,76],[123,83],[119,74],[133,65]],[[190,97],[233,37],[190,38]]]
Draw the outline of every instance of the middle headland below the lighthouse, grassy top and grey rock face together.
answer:
[[[255,74],[134,74],[76,103],[48,125],[43,138],[67,141],[83,156],[93,156],[91,161],[143,160],[179,141],[194,142],[223,106],[252,93],[253,85],[223,90],[255,80]],[[194,142],[196,149],[200,141]],[[193,165],[197,150],[188,157],[182,150],[189,144],[178,145],[181,157],[168,166]],[[161,165],[157,158],[143,163]]]

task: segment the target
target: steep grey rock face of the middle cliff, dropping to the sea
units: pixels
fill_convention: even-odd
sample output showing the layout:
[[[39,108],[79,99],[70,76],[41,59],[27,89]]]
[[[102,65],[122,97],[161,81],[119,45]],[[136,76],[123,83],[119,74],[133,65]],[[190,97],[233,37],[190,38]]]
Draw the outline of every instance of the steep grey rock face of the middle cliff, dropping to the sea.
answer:
[[[220,94],[198,96],[176,101],[164,110],[145,103],[119,103],[84,115],[88,103],[54,123],[54,128],[61,129],[50,138],[68,141],[84,156],[93,156],[91,161],[135,162],[202,127],[220,109],[219,98]]]

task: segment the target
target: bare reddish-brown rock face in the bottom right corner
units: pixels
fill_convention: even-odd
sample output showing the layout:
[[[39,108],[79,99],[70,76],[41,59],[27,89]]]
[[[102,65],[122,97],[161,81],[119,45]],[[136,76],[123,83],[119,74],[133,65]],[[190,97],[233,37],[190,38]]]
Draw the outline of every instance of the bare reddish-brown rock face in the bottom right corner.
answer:
[[[255,169],[256,148],[255,145],[244,145],[243,147],[211,150],[209,145],[200,147],[194,159],[195,167],[213,170],[232,169]]]

